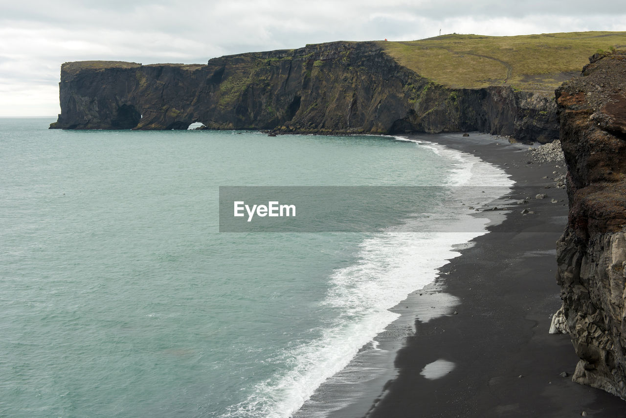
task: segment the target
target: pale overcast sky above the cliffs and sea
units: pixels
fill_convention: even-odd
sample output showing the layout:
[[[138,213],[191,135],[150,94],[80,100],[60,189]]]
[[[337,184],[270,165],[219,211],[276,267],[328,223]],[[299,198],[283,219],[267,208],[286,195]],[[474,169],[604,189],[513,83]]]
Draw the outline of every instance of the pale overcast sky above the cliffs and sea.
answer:
[[[0,116],[56,116],[66,61],[206,63],[329,41],[626,31],[589,0],[0,0]]]

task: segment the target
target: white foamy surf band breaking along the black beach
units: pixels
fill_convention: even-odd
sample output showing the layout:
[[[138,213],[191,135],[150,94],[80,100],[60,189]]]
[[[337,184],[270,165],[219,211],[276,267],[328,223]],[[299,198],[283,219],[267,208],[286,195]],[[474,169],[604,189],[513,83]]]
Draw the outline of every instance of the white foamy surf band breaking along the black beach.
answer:
[[[341,315],[327,324],[319,339],[285,352],[289,369],[257,385],[254,393],[233,405],[223,417],[292,415],[319,385],[344,369],[361,347],[398,318],[390,308],[433,282],[437,269],[459,255],[455,245],[486,233],[488,220],[471,217],[468,203],[488,203],[507,193],[513,181],[496,166],[468,153],[426,141],[414,142],[453,165],[447,184],[453,191],[446,210],[428,213],[428,218],[412,218],[401,227],[364,240],[358,262],[330,277],[323,304]],[[485,193],[476,196],[476,189],[469,186],[481,186]],[[468,203],[462,206],[461,201]]]

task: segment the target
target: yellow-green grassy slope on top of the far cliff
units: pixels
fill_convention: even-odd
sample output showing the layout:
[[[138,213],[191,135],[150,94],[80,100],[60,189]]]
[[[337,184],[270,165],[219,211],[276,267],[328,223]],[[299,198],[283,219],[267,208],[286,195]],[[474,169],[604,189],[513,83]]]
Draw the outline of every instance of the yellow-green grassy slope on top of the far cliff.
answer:
[[[398,63],[454,88],[510,85],[550,91],[576,74],[598,49],[626,46],[626,32],[522,36],[443,35],[378,43]]]

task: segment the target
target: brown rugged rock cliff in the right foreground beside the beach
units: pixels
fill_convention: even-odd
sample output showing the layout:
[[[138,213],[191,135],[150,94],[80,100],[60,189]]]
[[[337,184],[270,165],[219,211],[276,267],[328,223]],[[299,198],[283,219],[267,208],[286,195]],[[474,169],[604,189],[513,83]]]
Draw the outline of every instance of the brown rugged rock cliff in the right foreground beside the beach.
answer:
[[[580,357],[573,380],[626,399],[626,53],[590,61],[556,91],[570,212],[555,323]]]

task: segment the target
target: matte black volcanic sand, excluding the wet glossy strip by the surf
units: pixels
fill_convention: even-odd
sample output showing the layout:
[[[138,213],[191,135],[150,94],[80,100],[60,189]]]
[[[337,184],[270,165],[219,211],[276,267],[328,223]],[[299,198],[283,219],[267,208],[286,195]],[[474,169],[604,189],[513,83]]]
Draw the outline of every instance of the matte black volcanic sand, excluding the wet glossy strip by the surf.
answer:
[[[623,400],[572,382],[578,359],[570,339],[548,334],[561,305],[555,242],[567,222],[567,197],[542,177],[563,173],[555,168],[563,163],[527,164],[520,150],[528,146],[488,138],[455,134],[438,142],[501,166],[516,181],[513,198],[533,199],[513,206],[503,223],[441,268],[438,282],[461,300],[458,314],[416,322],[416,334],[398,351],[398,376],[367,418],[626,416]],[[535,200],[538,193],[547,198]],[[535,214],[522,216],[526,207]],[[454,369],[433,380],[420,374],[438,359]]]

